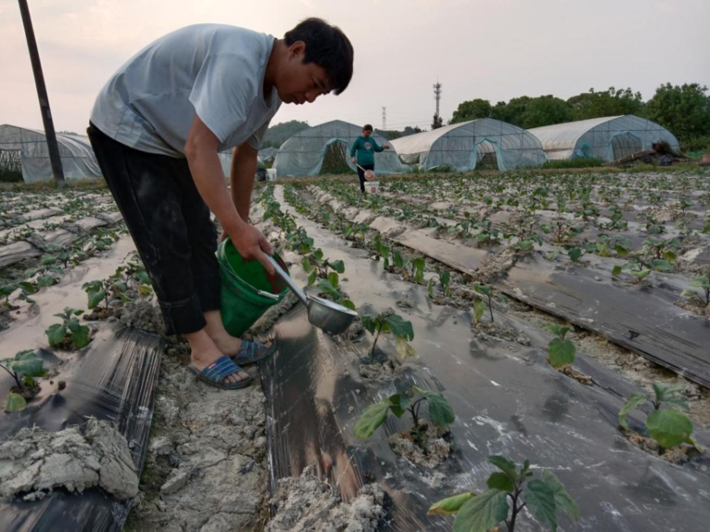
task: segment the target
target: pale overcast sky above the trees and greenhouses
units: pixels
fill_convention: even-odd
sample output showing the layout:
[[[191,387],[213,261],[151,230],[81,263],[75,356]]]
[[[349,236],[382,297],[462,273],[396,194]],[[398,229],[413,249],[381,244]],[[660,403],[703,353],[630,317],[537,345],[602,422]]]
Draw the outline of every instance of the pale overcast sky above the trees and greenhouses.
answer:
[[[29,0],[55,128],[84,132],[99,89],[131,55],[192,23],[283,37],[308,16],[340,26],[355,48],[341,96],[284,105],[272,124],[339,118],[427,126],[461,101],[568,98],[665,82],[710,85],[710,0]],[[15,0],[0,0],[0,123],[41,128]]]

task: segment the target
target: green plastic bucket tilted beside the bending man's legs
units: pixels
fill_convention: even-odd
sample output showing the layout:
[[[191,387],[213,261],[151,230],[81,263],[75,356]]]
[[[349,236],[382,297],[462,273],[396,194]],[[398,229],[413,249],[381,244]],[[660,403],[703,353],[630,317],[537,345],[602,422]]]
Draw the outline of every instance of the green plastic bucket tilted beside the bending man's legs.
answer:
[[[288,272],[285,263],[273,254]],[[241,336],[266,310],[285,297],[288,286],[278,275],[268,275],[261,262],[245,261],[229,238],[217,247],[222,277],[222,323],[231,336]]]

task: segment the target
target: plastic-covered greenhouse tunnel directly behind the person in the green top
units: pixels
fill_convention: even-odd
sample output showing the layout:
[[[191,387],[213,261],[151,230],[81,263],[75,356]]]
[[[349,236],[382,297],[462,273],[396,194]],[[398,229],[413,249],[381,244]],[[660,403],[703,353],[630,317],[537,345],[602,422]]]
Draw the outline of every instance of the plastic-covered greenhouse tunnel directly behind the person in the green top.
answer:
[[[349,167],[353,173],[356,173],[356,167],[350,160],[350,148],[361,134],[361,126],[340,120],[307,128],[281,145],[273,167],[279,177],[315,176],[321,171],[327,172],[327,168],[324,168],[327,150],[332,145],[339,145],[341,154],[339,164],[342,167]],[[391,143],[379,135],[373,134],[372,138],[381,146],[392,147]],[[400,162],[395,150],[390,149],[375,154],[376,174],[401,174],[408,171],[410,168]]]

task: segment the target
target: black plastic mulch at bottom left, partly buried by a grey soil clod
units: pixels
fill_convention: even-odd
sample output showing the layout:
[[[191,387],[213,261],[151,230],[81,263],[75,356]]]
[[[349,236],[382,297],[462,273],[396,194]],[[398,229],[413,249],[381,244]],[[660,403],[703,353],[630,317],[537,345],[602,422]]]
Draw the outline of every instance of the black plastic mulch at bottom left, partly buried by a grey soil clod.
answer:
[[[67,387],[38,397],[18,414],[0,414],[2,439],[23,427],[36,425],[45,431],[60,431],[94,416],[113,422],[126,436],[131,457],[140,471],[153,419],[159,345],[155,335],[119,326],[115,330],[102,328],[86,352],[75,360],[62,363],[63,354],[38,350],[46,366],[58,368],[55,382],[64,380]],[[0,379],[3,394],[9,389],[9,380],[11,377],[6,374]],[[57,490],[38,501],[0,503],[0,530],[118,532],[132,503],[97,488],[82,494]]]

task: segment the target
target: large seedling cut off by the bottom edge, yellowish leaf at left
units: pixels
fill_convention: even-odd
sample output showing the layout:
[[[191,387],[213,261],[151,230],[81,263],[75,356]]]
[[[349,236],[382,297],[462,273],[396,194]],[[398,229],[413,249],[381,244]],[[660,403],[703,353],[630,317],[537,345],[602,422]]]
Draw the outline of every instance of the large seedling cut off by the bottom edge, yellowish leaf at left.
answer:
[[[428,514],[456,515],[454,532],[486,532],[500,523],[506,523],[508,532],[513,532],[515,521],[525,506],[530,506],[537,521],[553,532],[557,530],[559,510],[573,523],[579,520],[577,504],[549,470],[542,470],[540,478],[527,482],[533,475],[530,460],[525,460],[520,470],[515,462],[503,456],[489,456],[488,462],[501,471],[491,473],[485,492],[448,497],[432,504]]]

